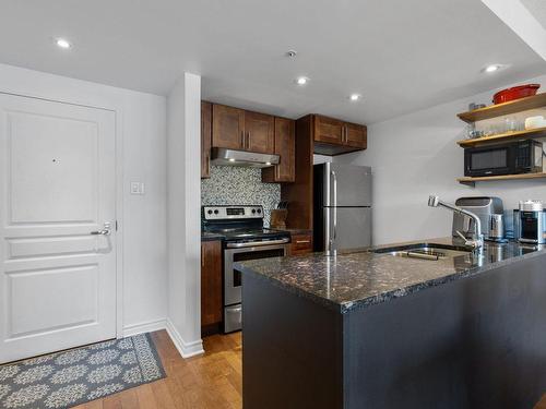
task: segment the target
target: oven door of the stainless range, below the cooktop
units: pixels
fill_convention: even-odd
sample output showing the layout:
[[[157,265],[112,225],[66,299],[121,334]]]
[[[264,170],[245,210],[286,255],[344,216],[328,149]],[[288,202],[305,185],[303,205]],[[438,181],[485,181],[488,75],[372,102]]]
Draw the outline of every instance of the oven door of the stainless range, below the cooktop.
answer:
[[[287,244],[257,245],[224,251],[224,305],[241,302],[241,273],[234,269],[234,263],[248,260],[282,257],[287,254]]]

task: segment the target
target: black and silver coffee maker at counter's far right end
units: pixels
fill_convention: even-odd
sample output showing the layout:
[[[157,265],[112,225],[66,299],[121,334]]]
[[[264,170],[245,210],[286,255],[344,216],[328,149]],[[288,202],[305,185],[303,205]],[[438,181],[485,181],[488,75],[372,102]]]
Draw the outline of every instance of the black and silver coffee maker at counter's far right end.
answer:
[[[546,212],[541,201],[521,201],[514,212],[519,216],[518,239],[522,243],[546,244]]]

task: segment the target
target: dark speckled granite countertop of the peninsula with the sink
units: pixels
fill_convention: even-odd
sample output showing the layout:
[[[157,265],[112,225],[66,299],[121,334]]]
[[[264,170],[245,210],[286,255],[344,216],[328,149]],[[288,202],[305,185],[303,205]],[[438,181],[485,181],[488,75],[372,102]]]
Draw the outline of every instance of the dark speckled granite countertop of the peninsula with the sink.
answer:
[[[423,242],[453,244],[452,238],[442,238],[375,249]],[[478,257],[472,254],[429,261],[372,253],[369,250],[346,251],[335,257],[313,253],[262,258],[237,263],[236,267],[244,274],[270,280],[288,291],[347,313],[546,253],[546,246],[536,249],[515,242],[486,242],[479,263]]]

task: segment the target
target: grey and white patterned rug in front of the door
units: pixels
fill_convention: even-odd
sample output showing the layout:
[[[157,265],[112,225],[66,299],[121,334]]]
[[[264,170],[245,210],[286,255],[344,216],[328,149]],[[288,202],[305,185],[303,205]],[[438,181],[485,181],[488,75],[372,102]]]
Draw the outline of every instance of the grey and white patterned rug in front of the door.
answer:
[[[0,408],[70,408],[162,377],[142,334],[0,366]]]

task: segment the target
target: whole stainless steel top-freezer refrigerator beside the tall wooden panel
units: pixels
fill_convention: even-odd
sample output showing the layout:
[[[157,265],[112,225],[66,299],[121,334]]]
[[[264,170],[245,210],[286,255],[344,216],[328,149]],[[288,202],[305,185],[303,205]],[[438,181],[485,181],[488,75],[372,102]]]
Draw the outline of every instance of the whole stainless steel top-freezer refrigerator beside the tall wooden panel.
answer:
[[[337,164],[313,167],[314,251],[371,245],[371,168]]]

